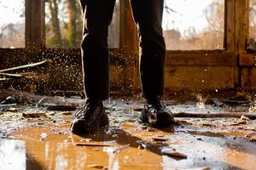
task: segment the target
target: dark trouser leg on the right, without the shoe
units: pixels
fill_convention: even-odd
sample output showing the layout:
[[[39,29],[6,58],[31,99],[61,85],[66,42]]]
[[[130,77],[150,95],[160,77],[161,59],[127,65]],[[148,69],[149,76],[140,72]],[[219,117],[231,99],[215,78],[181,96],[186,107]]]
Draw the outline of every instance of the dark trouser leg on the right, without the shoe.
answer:
[[[131,0],[140,38],[140,74],[143,97],[162,96],[166,43],[162,31],[164,0]]]

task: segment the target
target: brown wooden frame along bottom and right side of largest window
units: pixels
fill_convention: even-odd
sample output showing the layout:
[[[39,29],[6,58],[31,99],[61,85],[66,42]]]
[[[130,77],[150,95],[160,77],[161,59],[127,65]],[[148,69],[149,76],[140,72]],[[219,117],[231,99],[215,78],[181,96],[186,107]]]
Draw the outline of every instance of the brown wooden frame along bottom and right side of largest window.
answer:
[[[235,1],[224,0],[224,49],[167,50],[167,65],[236,65]],[[229,24],[228,24],[229,23]]]

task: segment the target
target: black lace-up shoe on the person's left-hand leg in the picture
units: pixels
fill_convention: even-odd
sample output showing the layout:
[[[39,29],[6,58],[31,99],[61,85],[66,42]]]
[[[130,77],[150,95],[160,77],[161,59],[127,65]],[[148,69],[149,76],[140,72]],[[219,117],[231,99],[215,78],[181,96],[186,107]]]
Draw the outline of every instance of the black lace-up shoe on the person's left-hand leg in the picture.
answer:
[[[72,133],[90,133],[108,124],[108,115],[105,113],[102,101],[90,102],[87,99],[86,105],[75,113],[71,131]]]

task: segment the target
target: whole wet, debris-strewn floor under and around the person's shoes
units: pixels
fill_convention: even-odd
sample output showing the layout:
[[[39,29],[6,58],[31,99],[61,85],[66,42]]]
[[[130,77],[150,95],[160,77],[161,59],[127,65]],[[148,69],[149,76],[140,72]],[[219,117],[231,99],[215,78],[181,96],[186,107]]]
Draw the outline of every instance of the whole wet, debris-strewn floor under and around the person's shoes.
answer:
[[[166,102],[175,112],[249,112]],[[0,169],[255,169],[256,121],[178,117],[165,129],[138,122],[141,102],[106,102],[110,126],[78,136],[69,132],[73,111],[16,105],[0,112]],[[27,117],[27,112],[40,113]],[[255,114],[251,111],[251,114]],[[128,145],[126,145],[128,144]],[[122,148],[122,146],[124,146]],[[123,150],[122,150],[123,149]]]

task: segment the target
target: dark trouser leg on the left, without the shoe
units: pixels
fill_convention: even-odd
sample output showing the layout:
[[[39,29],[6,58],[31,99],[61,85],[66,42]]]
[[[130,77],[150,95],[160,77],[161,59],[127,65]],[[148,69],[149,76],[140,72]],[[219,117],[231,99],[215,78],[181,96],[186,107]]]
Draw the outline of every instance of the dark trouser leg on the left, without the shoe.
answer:
[[[108,26],[115,0],[81,0],[84,37],[81,44],[84,91],[93,100],[109,96]]]

